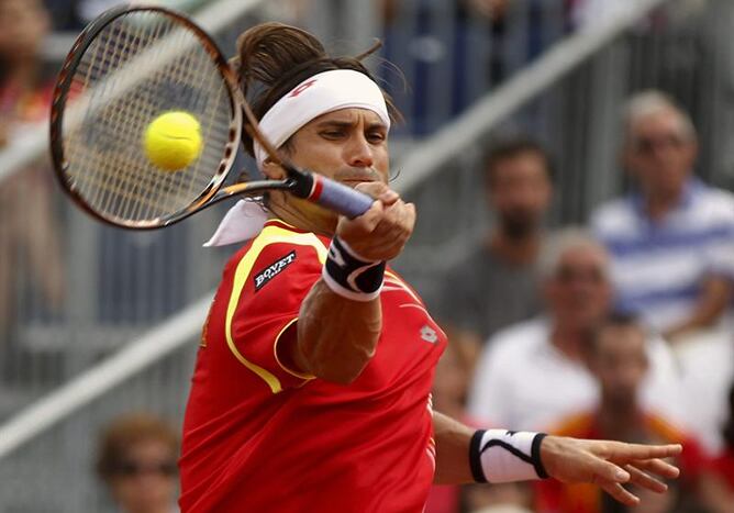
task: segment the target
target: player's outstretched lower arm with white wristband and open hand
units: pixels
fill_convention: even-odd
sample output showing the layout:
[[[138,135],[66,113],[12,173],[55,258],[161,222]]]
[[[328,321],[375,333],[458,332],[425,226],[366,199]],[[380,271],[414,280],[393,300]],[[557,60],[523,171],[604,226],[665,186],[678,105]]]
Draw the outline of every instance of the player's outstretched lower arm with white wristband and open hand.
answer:
[[[433,413],[436,440],[436,484],[509,482],[552,477],[590,482],[614,499],[636,505],[640,499],[622,484],[631,482],[661,493],[664,479],[678,469],[663,458],[677,456],[680,445],[637,445],[544,436],[505,430],[476,431],[442,413]]]

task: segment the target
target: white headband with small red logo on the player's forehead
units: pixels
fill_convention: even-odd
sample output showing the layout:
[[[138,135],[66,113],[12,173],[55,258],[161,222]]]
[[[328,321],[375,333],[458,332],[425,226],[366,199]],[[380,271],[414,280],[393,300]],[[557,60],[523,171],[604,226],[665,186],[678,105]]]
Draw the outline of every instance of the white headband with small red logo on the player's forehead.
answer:
[[[260,131],[276,148],[309,121],[340,109],[367,109],[390,129],[390,116],[379,86],[365,74],[334,69],[303,80],[276,102],[260,120]],[[267,152],[254,144],[257,167],[263,170]]]

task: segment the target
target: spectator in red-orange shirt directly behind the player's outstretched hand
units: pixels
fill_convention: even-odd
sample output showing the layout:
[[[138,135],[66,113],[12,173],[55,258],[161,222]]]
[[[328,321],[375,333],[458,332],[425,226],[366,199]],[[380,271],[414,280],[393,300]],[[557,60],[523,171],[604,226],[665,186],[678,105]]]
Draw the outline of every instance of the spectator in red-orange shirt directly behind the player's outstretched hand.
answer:
[[[682,444],[683,454],[679,461],[681,479],[677,483],[680,489],[665,494],[646,493],[643,505],[648,513],[679,511],[677,503],[691,506],[703,465],[702,451],[690,436],[669,423],[665,415],[640,403],[640,391],[649,371],[645,328],[633,316],[613,314],[601,323],[590,342],[588,364],[600,386],[600,403],[561,420],[550,432],[563,436],[638,444]],[[626,511],[611,504],[594,484],[544,481],[538,482],[535,490],[538,513]]]

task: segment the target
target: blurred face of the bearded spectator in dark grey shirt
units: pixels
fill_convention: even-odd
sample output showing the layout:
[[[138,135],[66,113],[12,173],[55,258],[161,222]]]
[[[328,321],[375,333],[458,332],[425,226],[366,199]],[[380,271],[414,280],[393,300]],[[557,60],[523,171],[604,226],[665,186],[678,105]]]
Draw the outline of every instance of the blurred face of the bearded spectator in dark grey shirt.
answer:
[[[550,203],[552,186],[544,159],[524,153],[496,163],[488,183],[490,203],[502,233],[522,238],[537,230]]]

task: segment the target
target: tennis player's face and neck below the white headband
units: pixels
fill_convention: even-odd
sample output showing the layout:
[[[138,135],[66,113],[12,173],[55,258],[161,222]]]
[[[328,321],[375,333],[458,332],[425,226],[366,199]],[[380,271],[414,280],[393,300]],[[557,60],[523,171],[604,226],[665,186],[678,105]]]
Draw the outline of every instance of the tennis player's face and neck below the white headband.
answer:
[[[286,152],[294,165],[349,187],[388,181],[388,129],[370,110],[341,109],[323,114],[300,129]],[[337,218],[333,212],[292,197],[287,201],[322,231],[334,231]]]

